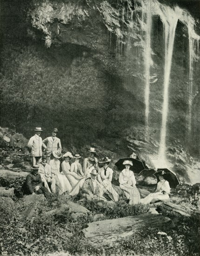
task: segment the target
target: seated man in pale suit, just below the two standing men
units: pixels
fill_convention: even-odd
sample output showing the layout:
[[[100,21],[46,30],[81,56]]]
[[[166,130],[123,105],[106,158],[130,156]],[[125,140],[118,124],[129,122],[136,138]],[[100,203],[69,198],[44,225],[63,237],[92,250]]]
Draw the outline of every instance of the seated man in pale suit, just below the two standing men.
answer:
[[[47,156],[42,156],[42,162],[39,164],[38,173],[41,176],[42,182],[45,184],[45,188],[51,192],[48,186],[48,183],[51,183],[51,190],[55,193],[55,179],[52,178],[51,166],[47,163]]]

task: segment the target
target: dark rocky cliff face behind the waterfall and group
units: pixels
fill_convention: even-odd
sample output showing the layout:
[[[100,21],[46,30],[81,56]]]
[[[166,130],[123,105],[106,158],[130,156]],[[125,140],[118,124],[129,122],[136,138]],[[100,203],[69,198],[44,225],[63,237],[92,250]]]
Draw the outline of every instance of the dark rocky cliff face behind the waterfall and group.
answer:
[[[138,1],[134,3],[138,4]],[[19,5],[17,11],[13,9],[24,30],[20,31],[23,37],[19,38],[17,24],[11,24],[10,30],[5,29],[6,40],[11,39],[15,45],[5,47],[2,54],[5,66],[1,72],[1,107],[2,113],[8,113],[3,114],[2,122],[10,125],[12,120],[12,125],[23,131],[27,138],[38,123],[44,125],[44,136],[56,124],[60,126],[63,145],[77,144],[81,147],[89,142],[96,143],[100,138],[107,148],[113,147],[113,152],[123,151],[127,156],[128,147],[153,167],[152,160],[159,151],[162,123],[163,24],[158,16],[154,17],[149,58],[151,97],[149,113],[146,113],[144,60],[147,42],[142,36],[146,26],[142,26],[144,20],[140,20],[142,15],[137,13],[136,7],[129,0],[33,0],[33,5],[26,8]],[[7,9],[10,10],[9,5]],[[24,9],[28,19],[21,20],[24,15],[20,16],[20,10]],[[8,13],[5,28],[13,13]],[[186,16],[189,16],[187,12]],[[199,154],[200,94],[197,81],[193,81],[192,130],[189,135],[186,115],[191,84],[188,81],[188,33],[180,21],[177,28],[169,84],[167,158],[170,163],[177,162],[183,166],[185,181],[194,183],[192,170],[188,167],[190,160],[178,152],[178,148],[183,145],[188,150],[192,149],[189,155],[197,157]],[[24,40],[25,35],[27,40]],[[17,36],[19,40],[15,40]],[[28,41],[28,46],[23,41]],[[48,49],[42,45],[43,42]],[[10,56],[10,61],[7,61],[7,56]],[[194,68],[193,77],[198,77],[198,72]],[[55,83],[58,88],[55,88]],[[14,98],[10,96],[12,94],[15,94]],[[52,94],[54,100],[49,102]],[[48,120],[47,115],[50,116]],[[77,121],[76,129],[74,120]],[[149,139],[145,138],[147,120]],[[113,142],[120,141],[119,138],[123,143],[126,140],[121,147]],[[1,142],[3,146],[9,143],[13,147],[26,144],[20,135],[13,135],[12,139],[7,133],[2,133]],[[177,154],[173,154],[173,150],[169,152],[173,147],[177,147]]]

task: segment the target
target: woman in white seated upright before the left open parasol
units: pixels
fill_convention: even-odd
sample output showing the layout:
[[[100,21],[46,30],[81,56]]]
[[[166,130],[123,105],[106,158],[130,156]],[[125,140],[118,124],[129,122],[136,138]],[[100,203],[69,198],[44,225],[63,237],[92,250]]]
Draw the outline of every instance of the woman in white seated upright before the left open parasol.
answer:
[[[123,169],[119,176],[120,189],[123,190],[127,199],[129,199],[129,204],[137,204],[140,202],[140,192],[136,187],[136,180],[130,167],[133,166],[133,162],[130,160],[125,160],[123,162],[125,169]]]

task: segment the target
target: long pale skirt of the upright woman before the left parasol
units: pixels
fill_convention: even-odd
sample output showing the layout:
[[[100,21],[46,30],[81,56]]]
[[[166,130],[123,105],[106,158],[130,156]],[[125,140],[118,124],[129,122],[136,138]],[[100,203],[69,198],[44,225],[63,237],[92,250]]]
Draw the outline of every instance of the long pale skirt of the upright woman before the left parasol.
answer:
[[[138,204],[140,203],[140,192],[136,186],[132,187],[129,184],[120,184],[120,189],[123,190],[127,199],[129,199],[129,204]]]

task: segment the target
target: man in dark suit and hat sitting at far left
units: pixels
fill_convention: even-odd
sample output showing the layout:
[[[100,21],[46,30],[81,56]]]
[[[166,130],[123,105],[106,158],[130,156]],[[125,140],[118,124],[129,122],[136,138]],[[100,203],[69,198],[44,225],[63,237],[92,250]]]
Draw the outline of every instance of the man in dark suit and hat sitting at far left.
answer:
[[[47,199],[51,197],[51,194],[49,193],[48,189],[43,187],[41,176],[38,173],[39,166],[33,165],[31,168],[32,172],[27,175],[26,185],[27,190],[29,194],[35,195],[35,194],[44,194]]]

